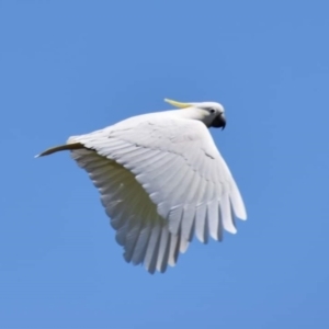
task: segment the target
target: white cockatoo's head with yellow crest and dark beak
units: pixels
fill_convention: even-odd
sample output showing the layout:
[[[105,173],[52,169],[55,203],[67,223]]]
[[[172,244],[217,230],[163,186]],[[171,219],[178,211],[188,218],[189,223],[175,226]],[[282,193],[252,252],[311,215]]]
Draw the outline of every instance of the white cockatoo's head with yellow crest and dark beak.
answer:
[[[195,118],[202,121],[207,127],[224,129],[226,126],[225,110],[223,105],[219,103],[215,103],[215,102],[181,103],[168,99],[164,99],[164,101],[179,109],[197,110]]]

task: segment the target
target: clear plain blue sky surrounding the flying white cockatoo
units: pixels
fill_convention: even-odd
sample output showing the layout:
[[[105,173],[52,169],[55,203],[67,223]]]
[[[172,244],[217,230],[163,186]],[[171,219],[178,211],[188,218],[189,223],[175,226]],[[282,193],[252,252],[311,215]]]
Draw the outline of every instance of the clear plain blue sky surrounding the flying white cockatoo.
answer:
[[[328,1],[0,1],[0,328],[328,328]],[[217,101],[248,220],[125,263],[70,135]]]

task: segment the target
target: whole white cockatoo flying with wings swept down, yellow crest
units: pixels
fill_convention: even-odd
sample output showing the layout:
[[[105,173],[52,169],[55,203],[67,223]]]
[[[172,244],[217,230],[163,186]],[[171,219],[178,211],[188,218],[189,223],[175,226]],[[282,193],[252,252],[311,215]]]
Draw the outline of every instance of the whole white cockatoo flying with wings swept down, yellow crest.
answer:
[[[36,156],[70,150],[101,194],[124,259],[150,273],[175,265],[194,235],[220,241],[237,231],[236,217],[247,219],[208,131],[225,127],[223,105],[164,101],[179,110],[133,116]]]

